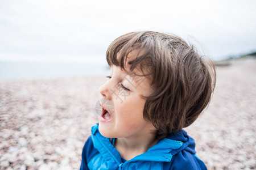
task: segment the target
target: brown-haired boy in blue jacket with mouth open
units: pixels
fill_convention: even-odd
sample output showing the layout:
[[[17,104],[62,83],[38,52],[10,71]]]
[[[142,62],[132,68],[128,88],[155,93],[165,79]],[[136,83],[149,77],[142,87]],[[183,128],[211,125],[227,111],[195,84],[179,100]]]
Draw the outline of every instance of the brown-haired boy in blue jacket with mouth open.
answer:
[[[131,32],[110,44],[112,73],[80,169],[207,169],[182,130],[207,107],[216,73],[174,35]]]

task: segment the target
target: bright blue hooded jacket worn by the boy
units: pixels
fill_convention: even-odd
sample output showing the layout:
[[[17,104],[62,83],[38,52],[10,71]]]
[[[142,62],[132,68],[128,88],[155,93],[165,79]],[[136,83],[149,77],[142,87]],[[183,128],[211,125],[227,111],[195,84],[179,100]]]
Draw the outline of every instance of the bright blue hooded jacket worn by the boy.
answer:
[[[122,159],[119,152],[103,137],[98,125],[82,149],[81,169],[207,169],[195,155],[195,141],[184,130],[160,140],[142,155]]]

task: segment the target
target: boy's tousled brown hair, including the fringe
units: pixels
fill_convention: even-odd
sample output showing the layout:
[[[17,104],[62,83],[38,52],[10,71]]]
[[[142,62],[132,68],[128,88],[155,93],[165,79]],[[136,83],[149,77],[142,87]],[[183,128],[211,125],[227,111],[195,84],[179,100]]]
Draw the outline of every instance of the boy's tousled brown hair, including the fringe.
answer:
[[[129,60],[132,50],[139,52]],[[194,46],[166,33],[120,36],[110,44],[106,59],[109,66],[125,69],[128,63],[131,71],[139,67],[150,78],[155,91],[144,96],[143,117],[155,126],[158,139],[191,125],[207,107],[216,83],[213,62],[200,57]]]

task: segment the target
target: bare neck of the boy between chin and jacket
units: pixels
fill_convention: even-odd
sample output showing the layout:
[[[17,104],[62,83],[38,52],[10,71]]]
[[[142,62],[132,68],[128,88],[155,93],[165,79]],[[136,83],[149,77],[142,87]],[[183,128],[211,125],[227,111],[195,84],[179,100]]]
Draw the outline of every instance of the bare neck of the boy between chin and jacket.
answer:
[[[155,134],[117,138],[115,139],[115,148],[117,148],[123,159],[130,160],[137,155],[147,152],[147,150],[154,146],[157,142],[158,141],[155,138]]]

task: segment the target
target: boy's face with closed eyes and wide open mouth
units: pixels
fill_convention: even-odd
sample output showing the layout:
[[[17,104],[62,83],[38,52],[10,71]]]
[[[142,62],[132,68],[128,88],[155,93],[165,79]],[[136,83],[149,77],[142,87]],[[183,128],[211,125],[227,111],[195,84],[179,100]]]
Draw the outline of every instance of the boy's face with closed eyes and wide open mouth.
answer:
[[[146,100],[141,97],[152,93],[150,82],[144,76],[128,75],[118,66],[112,66],[111,70],[108,82],[100,87],[102,97],[108,99],[105,104],[102,103],[100,133],[109,138],[138,137],[152,133],[155,128],[143,118]]]

